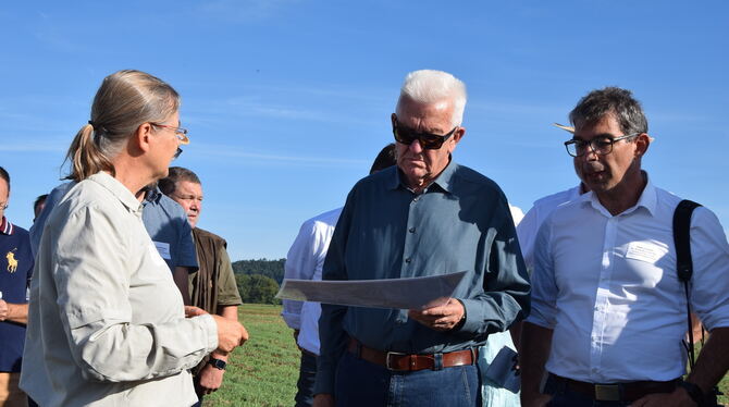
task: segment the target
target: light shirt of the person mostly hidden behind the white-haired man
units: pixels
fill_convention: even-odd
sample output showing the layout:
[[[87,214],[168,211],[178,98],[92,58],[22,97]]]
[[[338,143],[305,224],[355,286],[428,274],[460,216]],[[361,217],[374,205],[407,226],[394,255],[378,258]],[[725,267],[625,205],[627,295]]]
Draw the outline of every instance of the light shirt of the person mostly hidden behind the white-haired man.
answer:
[[[285,279],[321,280],[321,269],[326,258],[326,249],[332,240],[334,226],[342,208],[324,212],[304,222],[296,240],[286,255]],[[298,345],[319,355],[319,303],[283,300],[281,313],[286,324],[299,331]]]

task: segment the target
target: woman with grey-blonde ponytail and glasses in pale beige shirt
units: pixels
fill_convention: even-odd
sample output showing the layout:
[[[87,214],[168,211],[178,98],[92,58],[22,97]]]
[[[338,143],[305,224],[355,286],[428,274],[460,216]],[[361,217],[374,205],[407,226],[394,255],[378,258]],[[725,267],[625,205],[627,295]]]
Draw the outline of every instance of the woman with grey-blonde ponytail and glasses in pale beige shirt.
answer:
[[[190,406],[187,369],[247,340],[238,322],[183,306],[141,222],[135,195],[188,141],[178,108],[166,83],[116,72],[69,148],[75,184],[38,248],[21,375],[44,407]]]

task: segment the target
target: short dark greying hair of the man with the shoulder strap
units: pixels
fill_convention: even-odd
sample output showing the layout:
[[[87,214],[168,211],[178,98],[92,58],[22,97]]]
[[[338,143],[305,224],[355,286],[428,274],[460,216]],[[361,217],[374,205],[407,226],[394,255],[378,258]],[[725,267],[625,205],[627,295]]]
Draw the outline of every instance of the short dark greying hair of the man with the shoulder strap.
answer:
[[[625,134],[648,132],[641,102],[633,98],[630,90],[615,86],[592,90],[580,99],[569,112],[569,121],[574,126],[594,124],[610,113],[615,114]]]

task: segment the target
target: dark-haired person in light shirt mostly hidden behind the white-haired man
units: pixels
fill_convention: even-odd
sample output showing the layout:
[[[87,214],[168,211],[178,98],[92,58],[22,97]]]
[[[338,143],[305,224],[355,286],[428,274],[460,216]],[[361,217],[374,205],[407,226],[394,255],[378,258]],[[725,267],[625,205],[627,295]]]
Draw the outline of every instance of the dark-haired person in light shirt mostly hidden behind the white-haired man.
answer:
[[[378,153],[370,169],[370,175],[395,164],[397,164],[395,144],[391,143]],[[342,208],[318,214],[304,222],[286,256],[284,279],[321,280],[326,249],[339,213]],[[301,350],[295,406],[309,407],[313,404],[313,385],[317,379],[321,306],[319,303],[284,299],[281,316],[288,328],[294,330],[294,340]]]

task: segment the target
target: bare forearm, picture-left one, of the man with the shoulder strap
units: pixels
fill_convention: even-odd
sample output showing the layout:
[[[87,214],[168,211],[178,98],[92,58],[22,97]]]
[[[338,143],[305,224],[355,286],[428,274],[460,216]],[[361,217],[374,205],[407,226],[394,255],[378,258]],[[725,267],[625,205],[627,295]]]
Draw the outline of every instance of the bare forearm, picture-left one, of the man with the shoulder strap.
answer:
[[[531,322],[521,326],[521,394],[532,397],[540,393],[540,384],[544,377],[544,365],[549,357],[553,330]]]

